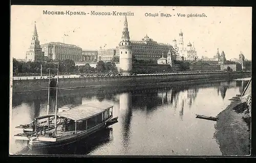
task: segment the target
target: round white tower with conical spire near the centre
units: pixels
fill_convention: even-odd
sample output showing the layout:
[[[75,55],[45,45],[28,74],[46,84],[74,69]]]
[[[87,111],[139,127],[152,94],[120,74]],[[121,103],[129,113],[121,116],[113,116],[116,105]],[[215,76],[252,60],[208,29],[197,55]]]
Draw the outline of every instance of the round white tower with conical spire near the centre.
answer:
[[[123,73],[130,73],[132,71],[132,44],[130,42],[127,18],[124,18],[122,38],[119,43],[119,70]]]

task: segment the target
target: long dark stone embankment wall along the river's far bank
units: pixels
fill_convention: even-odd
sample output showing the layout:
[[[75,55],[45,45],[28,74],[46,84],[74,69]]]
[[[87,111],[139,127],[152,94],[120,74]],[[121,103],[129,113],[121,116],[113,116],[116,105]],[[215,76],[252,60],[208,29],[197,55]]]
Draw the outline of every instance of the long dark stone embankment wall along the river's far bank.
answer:
[[[59,78],[58,86],[61,88],[125,86],[148,83],[175,82],[200,79],[236,79],[251,77],[250,72],[232,73],[187,73],[172,75],[143,75],[143,76],[116,76],[116,77],[91,77],[91,78]],[[56,82],[56,79],[52,79]],[[48,79],[14,80],[13,92],[45,90]],[[42,87],[43,86],[43,87]]]

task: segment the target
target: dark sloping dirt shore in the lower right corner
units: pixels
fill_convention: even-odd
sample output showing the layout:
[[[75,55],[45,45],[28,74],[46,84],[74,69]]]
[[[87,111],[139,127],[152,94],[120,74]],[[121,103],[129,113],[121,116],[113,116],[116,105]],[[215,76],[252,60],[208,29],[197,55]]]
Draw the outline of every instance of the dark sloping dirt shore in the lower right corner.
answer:
[[[214,136],[222,155],[250,155],[248,106],[238,96],[230,100],[230,105],[217,115]]]

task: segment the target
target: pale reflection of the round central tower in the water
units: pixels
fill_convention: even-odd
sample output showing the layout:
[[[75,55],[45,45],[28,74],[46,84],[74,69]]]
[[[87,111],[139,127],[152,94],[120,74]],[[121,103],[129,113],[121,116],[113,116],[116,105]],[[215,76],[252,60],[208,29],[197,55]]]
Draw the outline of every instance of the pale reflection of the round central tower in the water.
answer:
[[[130,92],[124,92],[119,95],[119,110],[121,114],[122,120],[122,147],[124,148],[125,153],[129,149],[130,144],[130,127],[131,127],[131,120],[132,120],[132,95]]]

